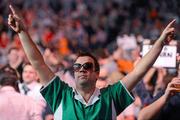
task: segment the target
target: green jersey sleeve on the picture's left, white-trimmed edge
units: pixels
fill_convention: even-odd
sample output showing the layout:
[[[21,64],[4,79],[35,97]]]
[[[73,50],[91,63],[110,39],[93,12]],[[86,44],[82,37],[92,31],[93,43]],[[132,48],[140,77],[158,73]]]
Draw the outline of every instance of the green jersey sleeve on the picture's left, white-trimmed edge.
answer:
[[[61,103],[62,96],[69,86],[55,76],[46,86],[41,89],[41,94],[51,107],[53,113]]]

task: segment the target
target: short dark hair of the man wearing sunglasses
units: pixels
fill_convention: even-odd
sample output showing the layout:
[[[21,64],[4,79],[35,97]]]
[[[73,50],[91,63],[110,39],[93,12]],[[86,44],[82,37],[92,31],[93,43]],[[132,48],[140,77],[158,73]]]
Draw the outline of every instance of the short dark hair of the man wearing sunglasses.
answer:
[[[87,51],[79,51],[78,52],[78,57],[83,57],[83,56],[89,56],[91,57],[93,60],[94,60],[94,64],[95,64],[95,71],[99,72],[100,71],[100,66],[99,66],[99,63],[98,63],[98,60],[96,59],[96,57],[91,54],[90,52],[87,52]]]

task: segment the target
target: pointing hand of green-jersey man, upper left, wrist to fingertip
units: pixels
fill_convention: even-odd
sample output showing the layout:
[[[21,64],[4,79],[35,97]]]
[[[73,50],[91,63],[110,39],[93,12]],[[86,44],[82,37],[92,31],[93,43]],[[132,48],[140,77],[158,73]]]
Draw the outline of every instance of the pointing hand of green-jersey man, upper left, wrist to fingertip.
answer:
[[[8,24],[15,32],[20,33],[22,30],[25,30],[22,17],[12,5],[10,5],[9,8],[11,13],[8,16]]]

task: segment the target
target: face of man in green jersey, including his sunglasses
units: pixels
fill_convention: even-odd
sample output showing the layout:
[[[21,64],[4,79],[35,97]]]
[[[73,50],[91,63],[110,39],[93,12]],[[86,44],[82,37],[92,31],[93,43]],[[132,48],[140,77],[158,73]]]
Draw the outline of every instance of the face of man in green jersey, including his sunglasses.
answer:
[[[73,65],[74,77],[77,85],[95,85],[98,72],[95,71],[94,60],[89,56],[78,57]]]

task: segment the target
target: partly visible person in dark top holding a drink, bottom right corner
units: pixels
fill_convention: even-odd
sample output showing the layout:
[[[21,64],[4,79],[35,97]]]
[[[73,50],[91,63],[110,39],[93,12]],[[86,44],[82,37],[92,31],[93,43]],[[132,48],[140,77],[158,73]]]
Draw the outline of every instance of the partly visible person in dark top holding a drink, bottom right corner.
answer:
[[[177,120],[180,110],[180,78],[174,77],[164,94],[152,104],[143,108],[138,120]]]

